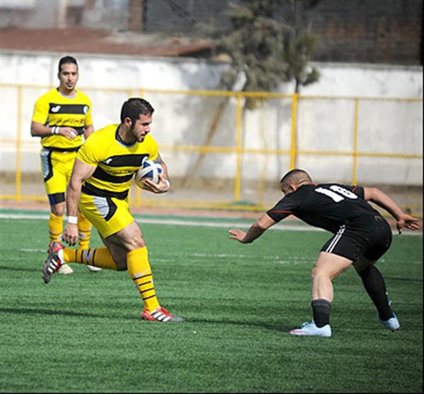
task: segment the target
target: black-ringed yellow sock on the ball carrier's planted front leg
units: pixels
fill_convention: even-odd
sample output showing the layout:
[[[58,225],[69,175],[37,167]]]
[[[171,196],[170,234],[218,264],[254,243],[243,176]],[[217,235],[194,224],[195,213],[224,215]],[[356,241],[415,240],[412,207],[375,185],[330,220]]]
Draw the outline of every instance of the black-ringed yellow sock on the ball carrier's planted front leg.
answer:
[[[153,276],[151,266],[148,263],[148,252],[146,246],[126,254],[126,266],[129,276],[139,289],[144,307],[148,312],[159,308],[159,302],[156,298],[155,286],[153,285]]]

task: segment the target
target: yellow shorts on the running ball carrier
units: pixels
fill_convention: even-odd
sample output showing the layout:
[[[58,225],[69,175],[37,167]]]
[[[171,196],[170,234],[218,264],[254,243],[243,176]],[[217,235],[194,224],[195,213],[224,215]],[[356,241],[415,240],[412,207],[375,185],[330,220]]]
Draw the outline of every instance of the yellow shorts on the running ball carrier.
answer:
[[[79,210],[103,238],[119,232],[134,221],[127,200],[81,193]]]

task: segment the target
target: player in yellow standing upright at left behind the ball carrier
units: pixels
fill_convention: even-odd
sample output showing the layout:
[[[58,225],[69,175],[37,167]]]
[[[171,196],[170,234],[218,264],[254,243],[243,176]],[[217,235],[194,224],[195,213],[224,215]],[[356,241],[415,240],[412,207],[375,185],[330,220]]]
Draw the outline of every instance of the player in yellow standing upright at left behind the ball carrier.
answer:
[[[49,198],[48,222],[50,241],[59,241],[64,229],[65,191],[71,178],[76,153],[83,145],[83,137],[93,133],[90,99],[76,90],[78,64],[72,56],[59,60],[59,87],[49,90],[35,102],[31,135],[41,137],[41,167]],[[91,224],[78,215],[80,248],[88,249]],[[99,268],[90,267],[90,270]],[[72,273],[63,265],[59,273]]]

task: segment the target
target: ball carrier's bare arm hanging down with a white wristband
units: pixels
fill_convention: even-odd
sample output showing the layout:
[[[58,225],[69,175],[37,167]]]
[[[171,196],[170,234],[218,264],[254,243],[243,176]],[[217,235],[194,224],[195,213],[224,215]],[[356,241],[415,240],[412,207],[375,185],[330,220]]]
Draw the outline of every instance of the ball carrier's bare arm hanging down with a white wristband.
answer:
[[[93,172],[95,172],[95,169],[96,167],[81,162],[78,158],[75,159],[73,163],[71,180],[66,189],[66,212],[68,215],[68,222],[66,223],[63,236],[64,241],[66,241],[69,246],[75,245],[78,241],[76,217],[78,217],[78,203],[81,197],[83,181],[90,178]]]

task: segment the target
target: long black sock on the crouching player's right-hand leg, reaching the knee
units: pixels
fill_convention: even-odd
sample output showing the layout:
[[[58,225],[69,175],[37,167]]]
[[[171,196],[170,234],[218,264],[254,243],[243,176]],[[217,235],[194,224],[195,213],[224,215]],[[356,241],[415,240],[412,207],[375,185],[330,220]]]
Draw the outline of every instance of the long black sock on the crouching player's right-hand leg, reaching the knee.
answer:
[[[363,281],[365,290],[367,290],[368,295],[377,308],[379,318],[384,321],[389,320],[393,316],[393,311],[389,306],[383,275],[374,265],[369,265],[358,274]]]

